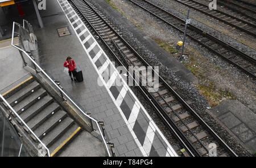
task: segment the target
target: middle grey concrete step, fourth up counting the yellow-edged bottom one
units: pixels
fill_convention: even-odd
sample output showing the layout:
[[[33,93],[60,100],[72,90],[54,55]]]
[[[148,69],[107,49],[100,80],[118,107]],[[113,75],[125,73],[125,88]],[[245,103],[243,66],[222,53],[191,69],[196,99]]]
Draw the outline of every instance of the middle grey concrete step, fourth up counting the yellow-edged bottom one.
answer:
[[[52,117],[52,115],[56,114],[58,110],[60,110],[60,106],[56,102],[52,102],[45,109],[40,111],[39,114],[37,114],[35,117],[27,122],[28,127],[30,127],[32,131],[34,131],[40,126],[40,124]]]

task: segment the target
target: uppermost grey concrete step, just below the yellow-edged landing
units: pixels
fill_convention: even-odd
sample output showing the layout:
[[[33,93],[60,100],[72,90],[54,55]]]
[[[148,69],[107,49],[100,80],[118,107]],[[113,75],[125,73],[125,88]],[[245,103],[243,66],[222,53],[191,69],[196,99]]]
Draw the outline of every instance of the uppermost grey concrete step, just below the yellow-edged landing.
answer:
[[[40,85],[38,82],[33,81],[32,83],[28,84],[26,87],[20,89],[18,92],[14,93],[12,96],[7,98],[7,102],[11,106],[15,106],[20,101],[22,101],[27,96],[30,96],[30,94],[34,93],[40,88]]]

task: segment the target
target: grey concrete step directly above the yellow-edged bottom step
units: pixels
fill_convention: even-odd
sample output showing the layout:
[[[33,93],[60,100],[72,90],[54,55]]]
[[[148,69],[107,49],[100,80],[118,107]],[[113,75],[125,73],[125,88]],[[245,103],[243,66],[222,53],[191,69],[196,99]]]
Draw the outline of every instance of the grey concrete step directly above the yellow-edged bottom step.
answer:
[[[47,133],[41,140],[43,143],[49,148],[59,137],[63,136],[65,132],[68,131],[71,126],[73,126],[75,122],[73,119],[66,117],[65,119],[61,120],[61,122],[53,128],[52,131]]]

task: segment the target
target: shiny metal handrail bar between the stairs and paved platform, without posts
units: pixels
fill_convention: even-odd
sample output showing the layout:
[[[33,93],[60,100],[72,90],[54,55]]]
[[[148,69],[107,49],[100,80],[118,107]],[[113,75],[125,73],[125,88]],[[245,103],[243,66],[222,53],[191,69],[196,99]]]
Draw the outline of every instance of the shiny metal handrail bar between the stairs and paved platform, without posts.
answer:
[[[111,154],[110,154],[109,149],[108,149],[108,145],[107,145],[106,140],[105,140],[105,137],[104,137],[104,135],[103,135],[103,133],[102,133],[102,131],[101,131],[100,125],[98,124],[98,121],[97,121],[96,119],[90,117],[88,114],[84,113],[84,111],[82,111],[82,110],[80,109],[80,107],[79,107],[75,102],[73,102],[73,100],[59,87],[59,85],[57,85],[57,84],[51,79],[51,77],[49,77],[49,76],[46,74],[46,72],[44,72],[44,70],[30,57],[30,55],[27,54],[26,51],[24,51],[23,49],[19,48],[19,46],[16,46],[16,45],[13,44],[15,24],[18,24],[18,25],[20,26],[19,23],[16,23],[15,21],[13,22],[13,33],[12,33],[12,38],[11,38],[11,45],[12,45],[14,48],[16,48],[16,49],[22,51],[22,52],[27,56],[27,58],[30,59],[30,61],[31,61],[32,63],[34,63],[34,65],[35,65],[36,67],[39,68],[39,70],[40,70],[39,72],[42,72],[42,73],[52,82],[52,84],[55,85],[55,86],[57,87],[57,89],[59,89],[59,91],[60,91],[61,93],[63,93],[63,94],[65,95],[65,97],[67,97],[68,100],[71,101],[72,104],[75,105],[75,106],[77,107],[77,109],[79,109],[79,110],[81,111],[82,114],[85,115],[85,117],[89,118],[90,120],[93,120],[93,121],[96,123],[96,125],[97,125],[97,127],[98,127],[98,131],[100,132],[100,135],[101,135],[101,137],[102,137],[102,140],[104,141],[104,144],[105,144],[106,150],[107,150],[107,152],[108,152],[108,155],[111,157]],[[20,118],[20,119],[21,119],[21,118]],[[21,120],[22,120],[22,119],[21,119]]]

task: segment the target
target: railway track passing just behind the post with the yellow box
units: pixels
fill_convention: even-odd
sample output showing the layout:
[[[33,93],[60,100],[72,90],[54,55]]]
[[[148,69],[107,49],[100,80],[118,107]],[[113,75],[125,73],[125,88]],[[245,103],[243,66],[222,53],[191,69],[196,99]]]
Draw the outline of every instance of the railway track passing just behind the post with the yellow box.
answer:
[[[171,25],[177,31],[184,33],[184,25],[185,21],[180,19],[179,17],[171,14],[170,12],[154,5],[151,2],[146,0],[129,0],[133,2],[135,5],[143,8],[150,14],[154,15],[156,18],[164,21],[168,25]],[[201,46],[204,46],[208,50],[212,51],[212,53],[224,58],[229,63],[233,64],[234,66],[240,68],[243,72],[256,78],[256,60],[249,55],[246,55],[240,50],[233,48],[229,44],[219,40],[218,38],[209,35],[207,32],[188,24],[187,28],[187,36],[190,37],[192,40],[199,43]]]

